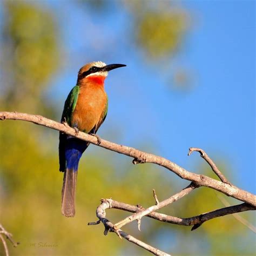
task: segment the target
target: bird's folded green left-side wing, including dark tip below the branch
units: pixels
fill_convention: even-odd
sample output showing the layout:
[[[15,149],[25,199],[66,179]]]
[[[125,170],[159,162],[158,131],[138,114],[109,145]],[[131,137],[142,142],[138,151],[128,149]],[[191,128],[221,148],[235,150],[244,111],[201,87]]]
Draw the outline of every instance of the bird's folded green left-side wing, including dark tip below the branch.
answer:
[[[79,95],[79,86],[73,87],[70,91],[68,98],[66,98],[64,109],[62,112],[61,122],[66,121],[71,126],[72,113],[75,110],[77,99]],[[65,159],[65,143],[66,134],[59,133],[59,171],[64,172],[66,169],[66,159]]]

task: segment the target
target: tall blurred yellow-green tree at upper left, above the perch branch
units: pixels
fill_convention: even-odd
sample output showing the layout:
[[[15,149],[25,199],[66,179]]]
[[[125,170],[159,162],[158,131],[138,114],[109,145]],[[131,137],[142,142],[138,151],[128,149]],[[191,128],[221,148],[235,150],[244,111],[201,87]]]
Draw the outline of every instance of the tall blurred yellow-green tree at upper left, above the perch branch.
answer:
[[[53,15],[33,3],[5,2],[1,66],[8,109],[42,112],[43,88],[59,64],[58,30]]]

